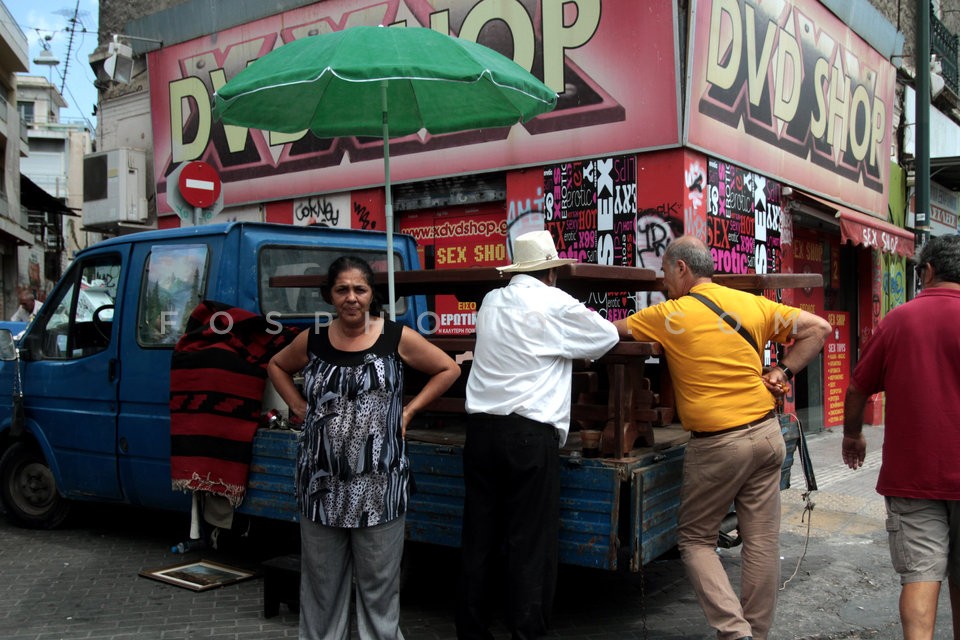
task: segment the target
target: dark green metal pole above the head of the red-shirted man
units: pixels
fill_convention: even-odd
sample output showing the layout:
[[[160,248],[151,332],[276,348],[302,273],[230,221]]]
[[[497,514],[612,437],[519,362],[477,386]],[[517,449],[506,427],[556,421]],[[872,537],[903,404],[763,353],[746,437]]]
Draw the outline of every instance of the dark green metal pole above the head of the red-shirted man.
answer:
[[[914,227],[930,226],[930,0],[917,0],[917,140],[914,169]],[[922,233],[918,233],[920,240]]]

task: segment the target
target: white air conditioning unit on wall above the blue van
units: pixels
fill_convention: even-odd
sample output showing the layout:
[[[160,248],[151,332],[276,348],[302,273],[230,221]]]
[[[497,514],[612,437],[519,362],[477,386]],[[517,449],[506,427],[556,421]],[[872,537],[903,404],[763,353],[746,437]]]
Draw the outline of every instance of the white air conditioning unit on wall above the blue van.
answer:
[[[83,226],[147,221],[147,160],[140,149],[110,149],[83,157]]]

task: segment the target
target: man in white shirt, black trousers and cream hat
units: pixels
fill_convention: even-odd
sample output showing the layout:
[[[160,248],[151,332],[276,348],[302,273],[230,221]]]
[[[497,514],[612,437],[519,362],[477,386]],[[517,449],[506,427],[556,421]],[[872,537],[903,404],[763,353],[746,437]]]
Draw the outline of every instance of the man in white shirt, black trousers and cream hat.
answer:
[[[613,323],[554,286],[557,267],[576,260],[558,257],[549,231],[519,236],[514,259],[500,270],[517,275],[480,305],[467,380],[461,639],[491,637],[490,593],[504,596],[514,638],[546,633],[573,360],[599,358],[619,341]],[[501,551],[506,584],[491,588]]]

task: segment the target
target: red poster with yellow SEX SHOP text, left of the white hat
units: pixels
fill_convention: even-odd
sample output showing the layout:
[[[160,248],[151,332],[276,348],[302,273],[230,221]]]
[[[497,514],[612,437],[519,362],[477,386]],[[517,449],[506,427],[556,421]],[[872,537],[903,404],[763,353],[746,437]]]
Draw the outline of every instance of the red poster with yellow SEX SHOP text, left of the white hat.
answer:
[[[420,264],[426,269],[499,267],[510,263],[506,216],[500,205],[403,213],[398,222],[402,233],[416,239]],[[480,302],[452,295],[434,296],[431,310],[436,314],[436,335],[475,333]]]

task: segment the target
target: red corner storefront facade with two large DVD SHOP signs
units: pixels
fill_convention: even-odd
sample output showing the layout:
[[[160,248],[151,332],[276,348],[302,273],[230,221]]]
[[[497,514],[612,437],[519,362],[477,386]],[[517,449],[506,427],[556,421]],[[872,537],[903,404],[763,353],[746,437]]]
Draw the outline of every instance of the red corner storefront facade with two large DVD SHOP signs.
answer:
[[[506,264],[511,238],[546,228],[584,262],[656,269],[687,233],[722,273],[822,271],[824,290],[783,298],[835,324],[793,399],[811,428],[835,424],[879,320],[880,255],[912,242],[887,221],[895,69],[816,0],[691,0],[682,19],[676,1],[328,0],[162,47],[148,55],[159,226],[189,219],[168,178],[202,160],[223,181],[218,218],[382,229],[379,141],[224,126],[210,104],[283,42],[401,22],[486,44],[560,94],[525,125],[391,142],[397,230],[426,266]],[[658,295],[588,302],[616,319]],[[441,331],[470,331],[475,306],[436,306]]]

